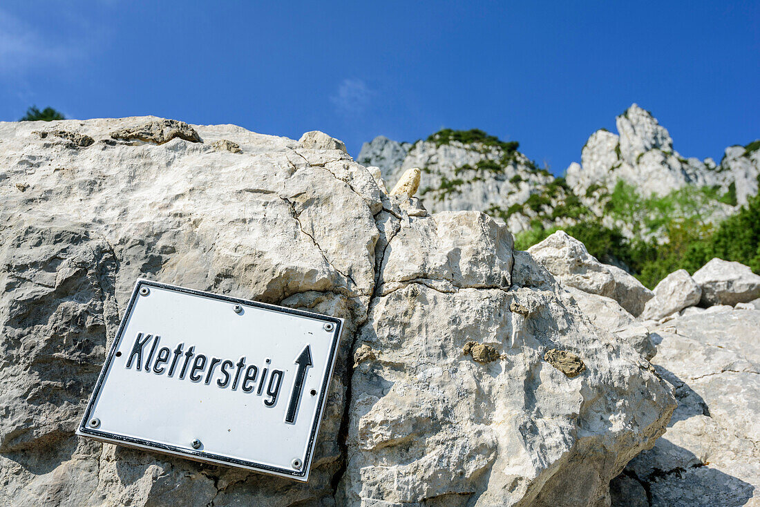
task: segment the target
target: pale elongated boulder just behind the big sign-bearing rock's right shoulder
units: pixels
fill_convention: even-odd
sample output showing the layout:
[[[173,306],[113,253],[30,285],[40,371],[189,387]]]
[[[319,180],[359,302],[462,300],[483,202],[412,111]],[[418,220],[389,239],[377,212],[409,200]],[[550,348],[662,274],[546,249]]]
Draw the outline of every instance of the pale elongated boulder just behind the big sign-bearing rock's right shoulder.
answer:
[[[597,261],[582,242],[563,230],[527,251],[561,284],[615,299],[635,317],[644,311],[644,305],[654,296],[651,290],[622,269]]]

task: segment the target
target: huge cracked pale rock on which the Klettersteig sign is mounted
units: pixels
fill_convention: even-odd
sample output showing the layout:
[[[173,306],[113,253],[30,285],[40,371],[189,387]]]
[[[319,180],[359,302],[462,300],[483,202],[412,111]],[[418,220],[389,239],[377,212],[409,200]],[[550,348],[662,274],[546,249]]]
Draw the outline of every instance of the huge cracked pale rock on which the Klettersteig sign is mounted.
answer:
[[[663,432],[670,388],[491,218],[177,123],[0,123],[0,505],[606,505]],[[309,483],[74,436],[137,277],[346,319]]]

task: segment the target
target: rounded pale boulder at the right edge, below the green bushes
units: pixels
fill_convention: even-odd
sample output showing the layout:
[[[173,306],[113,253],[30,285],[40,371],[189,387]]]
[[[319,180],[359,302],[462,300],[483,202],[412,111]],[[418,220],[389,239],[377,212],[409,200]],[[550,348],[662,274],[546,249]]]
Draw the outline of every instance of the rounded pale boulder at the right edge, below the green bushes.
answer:
[[[702,306],[748,303],[760,296],[760,275],[740,262],[713,258],[694,274]]]

